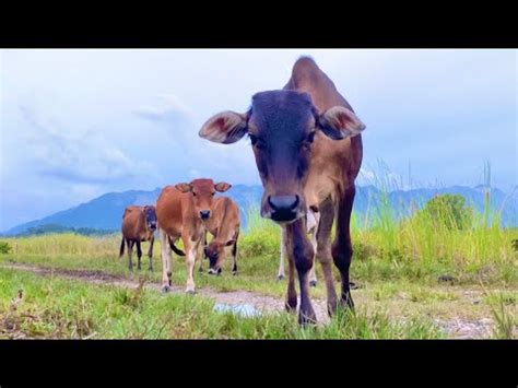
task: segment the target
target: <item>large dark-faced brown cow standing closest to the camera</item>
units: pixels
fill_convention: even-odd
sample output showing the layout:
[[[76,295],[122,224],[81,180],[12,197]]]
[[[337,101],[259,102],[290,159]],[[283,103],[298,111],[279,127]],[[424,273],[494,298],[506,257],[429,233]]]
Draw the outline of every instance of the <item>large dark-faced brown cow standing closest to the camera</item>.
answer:
[[[308,272],[314,248],[307,237],[308,209],[320,213],[316,257],[322,266],[329,314],[338,305],[353,308],[349,268],[352,257],[350,217],[354,180],[362,164],[365,125],[315,61],[303,57],[287,84],[257,93],[246,114],[223,111],[210,118],[200,137],[234,143],[251,141],[264,189],[261,215],[285,228],[290,261],[286,308],[295,310],[295,268],[301,287],[301,324],[316,321],[309,298]],[[335,217],[335,237],[330,235]],[[341,297],[334,291],[331,258],[341,275]]]

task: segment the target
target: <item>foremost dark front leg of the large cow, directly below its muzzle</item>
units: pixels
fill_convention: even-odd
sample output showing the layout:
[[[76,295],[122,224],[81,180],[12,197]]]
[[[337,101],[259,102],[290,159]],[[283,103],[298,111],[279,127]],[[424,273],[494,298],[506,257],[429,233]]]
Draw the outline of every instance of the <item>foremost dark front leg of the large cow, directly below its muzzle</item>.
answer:
[[[298,322],[303,326],[315,324],[317,317],[309,297],[308,273],[314,264],[313,246],[307,238],[306,220],[299,219],[286,225],[287,247],[290,257],[295,262],[301,289],[301,307],[298,310]]]

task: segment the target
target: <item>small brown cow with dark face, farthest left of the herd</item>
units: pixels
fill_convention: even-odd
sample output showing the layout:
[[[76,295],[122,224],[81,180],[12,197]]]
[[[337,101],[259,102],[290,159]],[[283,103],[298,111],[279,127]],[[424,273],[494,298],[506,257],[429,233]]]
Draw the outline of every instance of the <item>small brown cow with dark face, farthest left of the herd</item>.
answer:
[[[131,205],[126,208],[122,215],[122,242],[120,243],[119,257],[125,254],[125,243],[128,245],[128,268],[130,271],[133,270],[133,262],[131,261],[131,254],[133,245],[137,245],[137,257],[138,264],[137,269],[140,268],[140,258],[142,257],[142,250],[140,249],[140,243],[150,242],[150,249],[148,256],[150,258],[150,271],[153,270],[153,243],[155,240],[154,232],[156,230],[156,213],[155,207],[138,207]]]

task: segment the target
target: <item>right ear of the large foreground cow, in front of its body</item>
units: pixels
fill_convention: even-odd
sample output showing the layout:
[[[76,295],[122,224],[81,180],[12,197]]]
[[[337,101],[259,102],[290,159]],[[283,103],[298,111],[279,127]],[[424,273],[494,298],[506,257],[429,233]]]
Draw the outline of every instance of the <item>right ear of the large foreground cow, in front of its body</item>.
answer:
[[[357,116],[344,106],[333,106],[318,119],[318,126],[332,140],[355,137],[365,129]]]

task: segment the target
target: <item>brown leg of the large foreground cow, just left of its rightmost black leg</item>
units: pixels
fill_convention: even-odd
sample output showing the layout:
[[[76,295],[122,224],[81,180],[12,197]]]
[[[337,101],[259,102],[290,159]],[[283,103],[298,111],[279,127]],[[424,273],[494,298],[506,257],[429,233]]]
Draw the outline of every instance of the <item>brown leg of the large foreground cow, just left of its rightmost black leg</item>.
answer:
[[[323,272],[323,280],[326,282],[327,303],[329,315],[337,310],[337,291],[334,290],[334,280],[332,277],[332,257],[330,236],[332,230],[332,222],[334,219],[334,207],[331,199],[327,199],[320,204],[320,220],[318,223],[317,235],[317,252],[316,259],[320,261]]]

